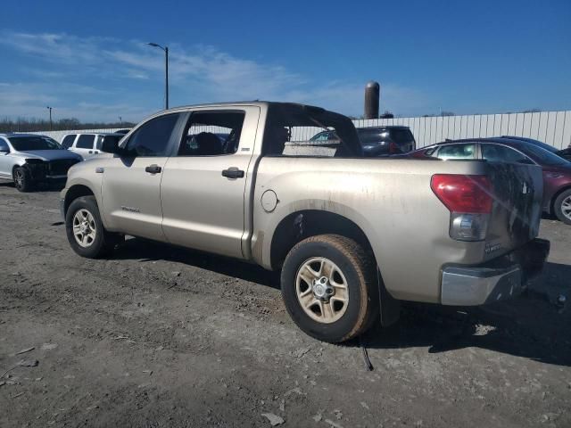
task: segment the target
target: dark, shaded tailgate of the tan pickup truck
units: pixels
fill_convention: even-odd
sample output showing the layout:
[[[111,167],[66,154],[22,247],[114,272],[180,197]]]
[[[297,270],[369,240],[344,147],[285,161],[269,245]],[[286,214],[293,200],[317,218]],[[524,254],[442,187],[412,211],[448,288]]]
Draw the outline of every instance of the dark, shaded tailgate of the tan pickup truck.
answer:
[[[492,180],[492,218],[485,259],[493,259],[528,243],[539,232],[543,177],[536,165],[487,162]]]

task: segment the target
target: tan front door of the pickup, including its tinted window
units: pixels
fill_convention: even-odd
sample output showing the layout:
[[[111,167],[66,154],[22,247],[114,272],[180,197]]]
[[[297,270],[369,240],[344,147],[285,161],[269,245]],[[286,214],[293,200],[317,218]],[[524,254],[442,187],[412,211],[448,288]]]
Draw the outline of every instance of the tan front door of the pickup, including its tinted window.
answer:
[[[103,211],[110,230],[164,241],[161,179],[184,117],[170,113],[150,119],[121,144],[124,155],[102,158],[104,168],[98,171],[103,173]]]

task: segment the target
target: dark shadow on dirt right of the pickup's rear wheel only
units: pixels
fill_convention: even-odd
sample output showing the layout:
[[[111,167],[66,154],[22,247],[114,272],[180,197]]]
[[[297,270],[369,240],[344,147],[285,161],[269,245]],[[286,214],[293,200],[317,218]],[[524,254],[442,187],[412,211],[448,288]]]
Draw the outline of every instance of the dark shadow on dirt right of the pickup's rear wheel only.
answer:
[[[547,364],[571,366],[571,266],[547,263],[523,296],[472,308],[403,303],[400,321],[365,335],[372,349],[428,347],[428,352],[476,347]],[[353,343],[358,346],[358,343]]]

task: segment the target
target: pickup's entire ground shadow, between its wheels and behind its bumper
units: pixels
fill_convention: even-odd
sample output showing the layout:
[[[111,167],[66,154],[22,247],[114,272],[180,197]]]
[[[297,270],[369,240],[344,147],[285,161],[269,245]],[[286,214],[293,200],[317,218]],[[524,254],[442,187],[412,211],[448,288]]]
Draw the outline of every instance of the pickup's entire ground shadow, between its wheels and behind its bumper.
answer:
[[[128,239],[113,259],[168,260],[279,289],[279,273],[201,251]],[[403,302],[395,325],[374,326],[363,337],[369,349],[428,347],[431,353],[476,347],[547,364],[571,366],[571,309],[555,303],[571,291],[571,266],[547,263],[525,295],[480,308]],[[549,291],[549,293],[544,292]],[[294,328],[294,326],[292,325]],[[359,341],[346,346],[359,347]],[[373,361],[374,364],[374,361]]]

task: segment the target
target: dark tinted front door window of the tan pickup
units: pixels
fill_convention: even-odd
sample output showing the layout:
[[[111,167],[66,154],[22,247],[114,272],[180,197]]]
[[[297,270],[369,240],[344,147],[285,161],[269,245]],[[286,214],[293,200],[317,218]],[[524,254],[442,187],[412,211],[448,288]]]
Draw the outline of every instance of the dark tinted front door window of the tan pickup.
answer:
[[[167,156],[179,117],[180,113],[165,114],[145,122],[129,137],[125,146],[128,156]]]

